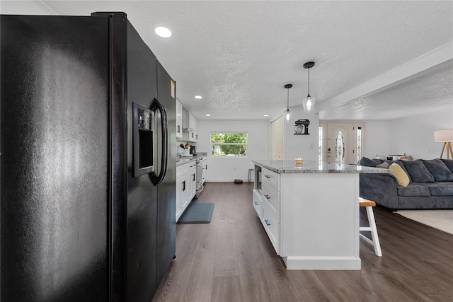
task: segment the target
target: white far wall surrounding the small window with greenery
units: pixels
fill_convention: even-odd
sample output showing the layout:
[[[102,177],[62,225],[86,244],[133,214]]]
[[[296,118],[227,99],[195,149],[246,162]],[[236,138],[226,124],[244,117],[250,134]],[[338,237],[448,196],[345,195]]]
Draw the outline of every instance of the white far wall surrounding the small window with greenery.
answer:
[[[248,169],[253,160],[268,160],[268,120],[199,120],[197,152],[207,152],[207,181],[232,182],[235,179],[247,181]],[[211,132],[247,132],[246,156],[211,156]],[[253,175],[252,175],[253,179]]]

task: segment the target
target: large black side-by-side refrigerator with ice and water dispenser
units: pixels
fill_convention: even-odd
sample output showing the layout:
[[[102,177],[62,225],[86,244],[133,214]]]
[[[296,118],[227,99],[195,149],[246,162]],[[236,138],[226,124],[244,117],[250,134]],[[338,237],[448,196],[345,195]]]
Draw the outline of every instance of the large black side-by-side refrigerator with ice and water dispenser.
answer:
[[[125,13],[0,21],[1,301],[151,301],[176,251],[176,83]]]

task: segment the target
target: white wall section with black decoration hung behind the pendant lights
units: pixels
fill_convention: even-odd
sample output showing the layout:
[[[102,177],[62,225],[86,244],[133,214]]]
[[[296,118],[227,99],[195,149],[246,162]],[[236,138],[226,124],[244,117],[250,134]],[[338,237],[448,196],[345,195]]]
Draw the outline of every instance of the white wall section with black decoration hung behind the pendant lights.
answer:
[[[294,161],[302,156],[306,161],[318,161],[319,114],[306,113],[302,106],[290,107],[291,121],[285,122],[285,160]],[[294,135],[297,120],[309,120],[310,135]]]

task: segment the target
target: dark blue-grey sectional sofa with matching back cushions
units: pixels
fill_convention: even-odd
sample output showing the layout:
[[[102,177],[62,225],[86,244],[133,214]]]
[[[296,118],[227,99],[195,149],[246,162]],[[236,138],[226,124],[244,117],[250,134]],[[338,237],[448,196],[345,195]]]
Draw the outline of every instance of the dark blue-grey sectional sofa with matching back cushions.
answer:
[[[453,209],[453,160],[382,161],[362,158],[358,165],[385,168],[391,163],[403,168],[409,184],[398,185],[392,174],[360,174],[360,197],[389,209]]]

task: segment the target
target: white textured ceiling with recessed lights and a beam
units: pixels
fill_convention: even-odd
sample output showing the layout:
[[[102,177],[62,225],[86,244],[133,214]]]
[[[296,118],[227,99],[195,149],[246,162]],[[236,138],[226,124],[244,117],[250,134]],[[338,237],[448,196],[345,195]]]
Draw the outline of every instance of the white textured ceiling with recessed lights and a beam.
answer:
[[[1,13],[124,11],[198,119],[263,119],[310,94],[321,120],[450,110],[453,1],[1,1]],[[164,39],[157,25],[173,32]],[[202,95],[196,100],[195,95]],[[205,117],[205,114],[211,117]],[[264,114],[270,117],[263,117]]]

